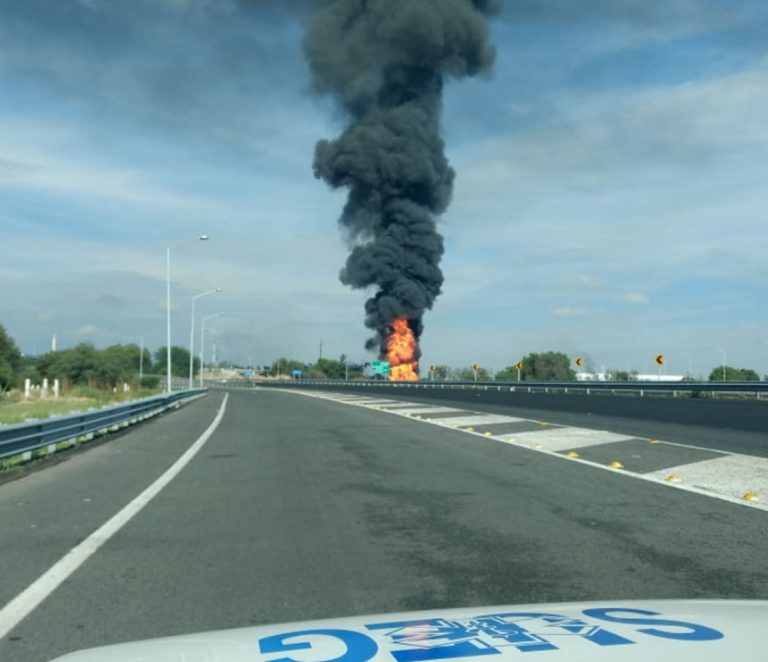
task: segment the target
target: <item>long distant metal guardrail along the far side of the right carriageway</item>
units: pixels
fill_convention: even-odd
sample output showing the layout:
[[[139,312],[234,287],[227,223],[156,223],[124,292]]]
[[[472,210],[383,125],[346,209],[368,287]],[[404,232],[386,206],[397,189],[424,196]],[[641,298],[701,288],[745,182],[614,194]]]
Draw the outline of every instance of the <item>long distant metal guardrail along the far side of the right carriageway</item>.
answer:
[[[245,385],[245,383],[243,383]],[[213,385],[211,383],[210,385]],[[677,396],[686,395],[752,395],[757,399],[768,396],[768,382],[389,382],[383,380],[290,380],[290,381],[260,381],[248,383],[250,386],[276,387],[371,387],[392,388],[416,391],[419,389],[456,389],[481,391],[507,391],[512,393],[583,393],[587,395],[639,395],[665,394]],[[224,384],[229,388],[237,387],[236,382]]]

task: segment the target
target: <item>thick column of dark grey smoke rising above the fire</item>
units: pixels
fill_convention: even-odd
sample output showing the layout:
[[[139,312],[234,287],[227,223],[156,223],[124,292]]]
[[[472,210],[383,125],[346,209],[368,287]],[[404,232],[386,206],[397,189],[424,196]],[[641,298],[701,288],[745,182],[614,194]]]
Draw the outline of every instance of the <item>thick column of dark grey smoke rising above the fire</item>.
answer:
[[[368,349],[384,352],[405,317],[416,338],[443,284],[436,217],[455,173],[440,136],[446,79],[488,72],[495,59],[488,17],[502,0],[318,0],[304,51],[314,91],[348,118],[315,150],[315,176],[349,189],[340,222],[352,247],[341,281],[375,288]]]

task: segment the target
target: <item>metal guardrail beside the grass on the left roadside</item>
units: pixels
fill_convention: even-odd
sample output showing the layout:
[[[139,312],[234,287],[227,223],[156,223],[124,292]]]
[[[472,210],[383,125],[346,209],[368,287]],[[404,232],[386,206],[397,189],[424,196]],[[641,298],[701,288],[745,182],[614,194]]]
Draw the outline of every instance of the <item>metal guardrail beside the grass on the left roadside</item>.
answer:
[[[156,416],[182,401],[202,395],[204,389],[178,391],[151,398],[56,416],[19,425],[0,426],[0,458],[33,452],[52,444],[113,432]]]

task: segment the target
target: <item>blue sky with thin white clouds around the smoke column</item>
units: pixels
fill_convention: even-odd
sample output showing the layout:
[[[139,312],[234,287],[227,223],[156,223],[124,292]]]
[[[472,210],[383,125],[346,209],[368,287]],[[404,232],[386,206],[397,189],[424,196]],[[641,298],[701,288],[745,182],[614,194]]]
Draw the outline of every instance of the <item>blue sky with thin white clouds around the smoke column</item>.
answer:
[[[221,359],[376,358],[344,192],[312,172],[345,120],[309,91],[305,4],[0,0],[0,323],[25,353],[164,345],[170,246],[174,344],[221,288],[197,299]],[[494,74],[445,93],[422,362],[768,374],[768,5],[506,0],[492,33]]]

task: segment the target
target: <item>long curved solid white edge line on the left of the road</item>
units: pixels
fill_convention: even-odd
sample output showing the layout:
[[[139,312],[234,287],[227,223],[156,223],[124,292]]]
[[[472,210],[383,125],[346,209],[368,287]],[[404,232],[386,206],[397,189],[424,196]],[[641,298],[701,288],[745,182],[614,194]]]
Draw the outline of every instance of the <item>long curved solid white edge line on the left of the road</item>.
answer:
[[[45,573],[19,593],[0,610],[0,639],[24,620],[43,600],[53,593],[75,570],[85,563],[98,549],[130,522],[162,489],[168,485],[197,455],[221,423],[227,408],[229,394],[224,395],[213,423],[203,432],[184,454],[154,483],[126,505],[111,519],[102,524],[76,547],[62,556]]]

